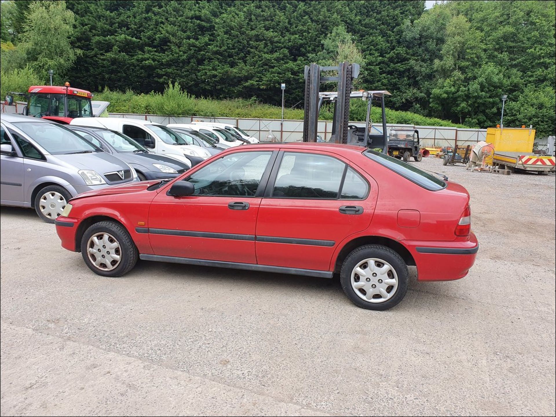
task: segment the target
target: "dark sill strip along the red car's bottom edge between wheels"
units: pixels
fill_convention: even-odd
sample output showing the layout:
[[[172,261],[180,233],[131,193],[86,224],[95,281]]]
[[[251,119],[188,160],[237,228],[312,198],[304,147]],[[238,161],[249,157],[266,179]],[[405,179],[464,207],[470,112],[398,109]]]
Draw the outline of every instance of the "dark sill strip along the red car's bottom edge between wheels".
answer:
[[[332,278],[332,275],[334,274],[330,271],[319,271],[315,269],[274,267],[272,265],[244,264],[239,262],[221,262],[219,260],[167,257],[163,255],[140,254],[139,258],[145,260],[157,260],[160,262],[173,262],[177,264],[202,265],[205,267],[247,269],[251,271],[277,272],[281,274],[306,275],[307,277],[319,277],[319,278]]]

